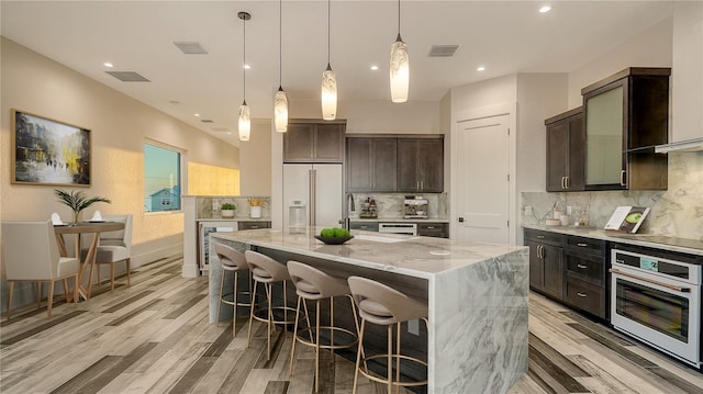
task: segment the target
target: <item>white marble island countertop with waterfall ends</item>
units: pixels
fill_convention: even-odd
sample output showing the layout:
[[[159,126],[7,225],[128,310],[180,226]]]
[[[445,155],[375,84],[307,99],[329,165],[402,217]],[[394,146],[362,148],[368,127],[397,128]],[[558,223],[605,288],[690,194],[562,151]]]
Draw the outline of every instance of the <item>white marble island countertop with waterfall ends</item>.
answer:
[[[281,256],[292,256],[331,274],[359,274],[403,291],[415,289],[413,296],[426,299],[429,309],[429,393],[505,393],[527,371],[526,247],[360,232],[344,245],[324,245],[313,237],[319,232],[311,227],[215,233],[210,245],[256,249],[281,262]],[[211,323],[221,274],[213,258]]]

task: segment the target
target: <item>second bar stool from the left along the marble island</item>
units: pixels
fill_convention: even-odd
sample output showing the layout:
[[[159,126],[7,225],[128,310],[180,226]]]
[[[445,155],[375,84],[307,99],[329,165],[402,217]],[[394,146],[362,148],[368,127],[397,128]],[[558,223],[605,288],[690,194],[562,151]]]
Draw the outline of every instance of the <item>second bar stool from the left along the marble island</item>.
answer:
[[[275,324],[293,324],[293,320],[288,319],[288,313],[292,313],[295,311],[292,307],[288,306],[288,296],[286,294],[286,282],[290,280],[290,275],[288,274],[288,269],[286,264],[280,263],[266,255],[261,255],[258,251],[246,250],[244,252],[246,257],[246,262],[249,264],[249,270],[252,271],[252,279],[254,279],[254,289],[252,293],[254,293],[254,297],[256,297],[256,288],[259,283],[264,283],[264,288],[266,289],[266,302],[267,302],[267,313],[266,318],[259,317],[256,314],[265,311],[265,309],[255,309],[256,302],[252,300],[252,308],[249,313],[249,333],[247,336],[247,346],[252,342],[252,323],[254,319],[264,322],[267,324],[267,344],[266,344],[266,360],[271,359],[271,326]],[[282,306],[272,306],[272,285],[276,282],[283,282],[283,305]],[[274,315],[274,311],[282,311],[283,316],[281,318],[276,318]],[[274,327],[275,328],[275,327]],[[284,329],[284,328],[283,328]],[[283,331],[286,333],[286,331]]]

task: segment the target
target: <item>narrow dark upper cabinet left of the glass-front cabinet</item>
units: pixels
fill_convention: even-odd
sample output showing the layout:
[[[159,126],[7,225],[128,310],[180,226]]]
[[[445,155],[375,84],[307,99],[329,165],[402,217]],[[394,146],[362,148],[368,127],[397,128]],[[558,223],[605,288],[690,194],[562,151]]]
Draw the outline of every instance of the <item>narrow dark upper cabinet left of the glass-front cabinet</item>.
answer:
[[[585,187],[585,130],[578,108],[545,121],[547,191],[582,191]]]

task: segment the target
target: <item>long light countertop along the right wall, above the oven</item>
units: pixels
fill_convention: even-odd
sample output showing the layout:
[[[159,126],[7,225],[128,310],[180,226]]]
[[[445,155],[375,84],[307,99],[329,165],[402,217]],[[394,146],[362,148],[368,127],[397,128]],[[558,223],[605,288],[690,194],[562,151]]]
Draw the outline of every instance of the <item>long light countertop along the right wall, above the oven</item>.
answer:
[[[607,240],[611,243],[644,246],[648,248],[662,249],[669,251],[678,251],[703,256],[703,240],[683,239],[676,237],[663,237],[655,234],[627,234],[612,230],[604,230],[595,227],[573,227],[573,226],[546,226],[546,225],[527,225],[523,224],[523,228],[539,229],[567,235],[577,235],[580,237],[595,238]]]

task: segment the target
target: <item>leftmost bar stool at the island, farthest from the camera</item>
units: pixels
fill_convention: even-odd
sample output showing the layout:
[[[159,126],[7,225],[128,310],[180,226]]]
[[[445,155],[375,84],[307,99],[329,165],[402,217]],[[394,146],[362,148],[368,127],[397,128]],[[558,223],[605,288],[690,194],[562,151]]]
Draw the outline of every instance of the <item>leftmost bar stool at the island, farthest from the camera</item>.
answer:
[[[234,314],[232,317],[232,336],[236,337],[236,323],[237,323],[237,306],[248,306],[252,307],[252,274],[249,272],[249,264],[246,262],[246,258],[244,254],[234,249],[231,246],[215,244],[215,254],[217,254],[217,258],[220,259],[220,263],[222,264],[222,280],[220,281],[220,301],[217,302],[217,319],[215,324],[220,324],[220,309],[222,308],[222,304],[232,305],[234,307]],[[239,280],[239,272],[247,271],[249,286],[247,291],[237,291],[237,284]],[[234,273],[234,289],[232,293],[224,293],[224,277],[227,272]],[[238,294],[248,294],[249,302],[237,302]],[[232,295],[232,301],[228,301],[226,297]]]

